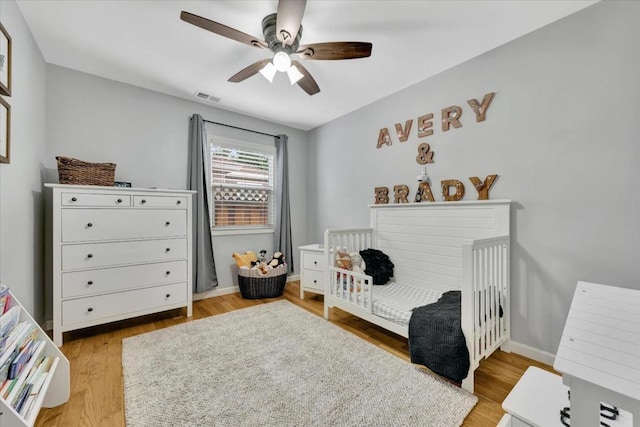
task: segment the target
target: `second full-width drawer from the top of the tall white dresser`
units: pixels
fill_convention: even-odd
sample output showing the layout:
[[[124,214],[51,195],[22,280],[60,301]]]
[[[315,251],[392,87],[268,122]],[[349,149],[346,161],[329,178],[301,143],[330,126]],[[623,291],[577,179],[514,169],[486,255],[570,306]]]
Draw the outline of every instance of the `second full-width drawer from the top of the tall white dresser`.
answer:
[[[187,257],[187,239],[62,245],[62,270],[174,261]]]

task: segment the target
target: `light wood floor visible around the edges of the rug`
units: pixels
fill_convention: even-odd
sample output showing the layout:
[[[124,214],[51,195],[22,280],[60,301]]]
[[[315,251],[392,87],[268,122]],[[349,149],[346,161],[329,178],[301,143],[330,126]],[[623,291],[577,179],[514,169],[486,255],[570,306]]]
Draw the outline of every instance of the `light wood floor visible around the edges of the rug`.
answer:
[[[305,300],[300,300],[299,295],[298,282],[292,282],[286,285],[282,298],[322,316],[322,296],[307,294]],[[194,302],[192,319],[270,301],[273,300],[244,300],[240,294],[209,298]],[[331,317],[347,331],[409,360],[406,339],[338,309],[332,310]],[[183,310],[173,310],[65,334],[62,351],[71,362],[71,398],[62,406],[42,409],[36,426],[124,426],[122,339],[186,321],[190,320],[184,317]],[[475,374],[479,401],[464,425],[495,427],[504,413],[502,401],[530,365],[551,370],[547,365],[501,351],[483,361]]]

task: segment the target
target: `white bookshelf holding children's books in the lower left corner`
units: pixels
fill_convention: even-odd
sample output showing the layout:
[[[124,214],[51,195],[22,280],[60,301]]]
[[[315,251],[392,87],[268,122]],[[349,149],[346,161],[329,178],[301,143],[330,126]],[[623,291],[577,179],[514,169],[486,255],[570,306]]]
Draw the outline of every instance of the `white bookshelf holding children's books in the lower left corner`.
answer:
[[[69,361],[54,345],[51,339],[49,339],[47,334],[40,329],[38,324],[13,295],[11,295],[10,305],[20,308],[20,322],[31,325],[35,331],[34,341],[44,342],[44,344],[43,347],[37,347],[38,350],[34,352],[29,361],[24,365],[21,374],[17,375],[13,380],[16,382],[13,385],[16,393],[17,390],[25,384],[30,384],[31,387],[31,393],[25,403],[23,403],[20,411],[16,411],[14,405],[11,404],[11,402],[14,401],[11,393],[9,393],[6,400],[4,397],[0,397],[0,426],[33,426],[40,412],[40,408],[52,408],[62,405],[69,400]],[[4,354],[2,356],[4,356]],[[48,364],[48,370],[43,369],[39,371],[38,367],[43,358],[49,358],[50,363]],[[43,372],[46,372],[46,374],[43,375]],[[34,391],[36,388],[38,390],[37,393]],[[14,393],[14,396],[16,393]],[[29,401],[29,399],[32,400]]]

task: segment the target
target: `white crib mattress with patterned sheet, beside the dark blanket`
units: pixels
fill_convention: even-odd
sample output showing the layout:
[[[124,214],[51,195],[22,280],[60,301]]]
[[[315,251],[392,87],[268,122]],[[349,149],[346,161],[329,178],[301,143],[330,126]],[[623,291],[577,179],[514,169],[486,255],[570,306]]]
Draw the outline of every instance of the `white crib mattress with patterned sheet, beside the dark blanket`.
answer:
[[[412,310],[432,304],[441,292],[406,283],[392,282],[373,287],[373,314],[403,326],[409,325]]]

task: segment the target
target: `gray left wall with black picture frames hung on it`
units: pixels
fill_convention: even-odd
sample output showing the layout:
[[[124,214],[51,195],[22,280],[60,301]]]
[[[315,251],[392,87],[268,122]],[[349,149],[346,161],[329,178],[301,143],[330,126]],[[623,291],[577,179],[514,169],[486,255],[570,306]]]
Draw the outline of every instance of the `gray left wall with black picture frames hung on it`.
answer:
[[[46,66],[14,1],[0,2],[0,20],[13,48],[12,94],[4,97],[11,106],[11,163],[0,164],[0,281],[41,322]]]

